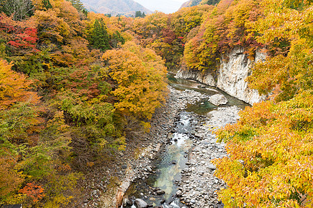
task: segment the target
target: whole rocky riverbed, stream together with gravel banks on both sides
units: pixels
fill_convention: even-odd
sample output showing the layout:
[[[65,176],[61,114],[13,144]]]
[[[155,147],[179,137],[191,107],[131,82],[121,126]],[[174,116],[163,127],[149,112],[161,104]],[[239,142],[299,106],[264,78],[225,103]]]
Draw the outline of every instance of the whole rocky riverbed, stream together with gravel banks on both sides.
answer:
[[[223,207],[215,191],[225,183],[214,177],[216,166],[210,161],[225,157],[225,144],[216,143],[211,130],[236,122],[248,104],[192,80],[170,76],[169,84],[166,108],[152,119],[147,136],[152,144],[127,164],[125,179],[114,188],[115,198],[104,195],[99,205],[131,207],[137,198],[153,207]],[[225,96],[227,104],[209,103],[216,94]]]

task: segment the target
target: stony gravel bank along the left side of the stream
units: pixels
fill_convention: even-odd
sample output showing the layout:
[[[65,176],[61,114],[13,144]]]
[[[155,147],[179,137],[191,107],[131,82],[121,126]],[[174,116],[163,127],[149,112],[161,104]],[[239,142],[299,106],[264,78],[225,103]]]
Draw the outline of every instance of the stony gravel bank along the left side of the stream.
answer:
[[[81,185],[86,194],[75,206],[118,207],[130,183],[137,178],[145,179],[152,173],[147,170],[150,170],[150,164],[156,159],[161,146],[167,143],[168,132],[173,128],[177,114],[188,103],[196,103],[204,98],[203,94],[192,90],[181,92],[170,86],[168,89],[165,105],[152,116],[150,132],[127,141],[126,150],[114,153],[111,164],[86,175]]]

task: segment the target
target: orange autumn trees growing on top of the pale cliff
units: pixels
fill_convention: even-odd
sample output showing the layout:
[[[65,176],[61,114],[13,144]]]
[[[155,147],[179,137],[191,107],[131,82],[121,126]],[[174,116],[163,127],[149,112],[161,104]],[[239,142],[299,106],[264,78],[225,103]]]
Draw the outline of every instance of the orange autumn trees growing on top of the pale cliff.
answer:
[[[198,34],[186,43],[184,58],[187,67],[200,71],[214,71],[223,54],[234,47],[246,49],[253,59],[262,47],[255,40],[256,31],[251,26],[262,15],[258,1],[223,0],[210,7]]]

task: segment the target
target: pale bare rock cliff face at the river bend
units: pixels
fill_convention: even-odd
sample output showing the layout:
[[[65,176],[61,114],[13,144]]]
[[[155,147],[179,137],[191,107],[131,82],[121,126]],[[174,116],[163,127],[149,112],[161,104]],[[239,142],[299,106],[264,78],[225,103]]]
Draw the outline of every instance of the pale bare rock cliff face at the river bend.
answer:
[[[210,73],[203,74],[201,71],[180,70],[177,72],[176,77],[198,80],[200,83],[218,87],[227,94],[246,103],[259,103],[265,99],[265,96],[259,96],[259,93],[255,89],[250,89],[245,81],[251,74],[253,62],[247,58],[243,51],[242,48],[233,49],[231,53],[227,54],[227,58],[222,58],[215,76]],[[264,53],[257,51],[255,61],[264,60],[265,58]]]

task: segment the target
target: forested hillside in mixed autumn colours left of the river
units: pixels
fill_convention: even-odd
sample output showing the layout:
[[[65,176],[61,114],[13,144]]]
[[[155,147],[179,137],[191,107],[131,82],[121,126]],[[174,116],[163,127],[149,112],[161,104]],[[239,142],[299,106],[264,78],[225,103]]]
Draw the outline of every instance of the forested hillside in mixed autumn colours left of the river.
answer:
[[[132,20],[72,3],[2,1],[1,204],[65,207],[165,99],[164,62],[134,42]]]

